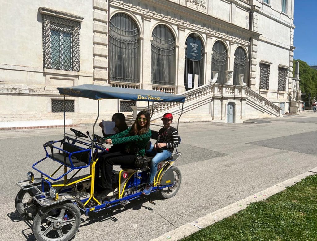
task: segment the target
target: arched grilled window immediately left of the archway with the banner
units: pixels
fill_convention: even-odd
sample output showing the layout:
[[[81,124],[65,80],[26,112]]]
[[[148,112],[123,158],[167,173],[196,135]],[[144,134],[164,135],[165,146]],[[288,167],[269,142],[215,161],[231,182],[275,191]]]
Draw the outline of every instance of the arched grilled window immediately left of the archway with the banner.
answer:
[[[159,24],[152,32],[151,81],[153,85],[175,85],[175,38]]]

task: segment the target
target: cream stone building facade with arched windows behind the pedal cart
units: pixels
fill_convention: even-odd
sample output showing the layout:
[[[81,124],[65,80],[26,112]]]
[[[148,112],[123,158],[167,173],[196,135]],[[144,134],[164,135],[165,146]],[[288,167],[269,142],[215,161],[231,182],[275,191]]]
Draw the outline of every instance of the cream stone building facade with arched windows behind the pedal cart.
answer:
[[[225,85],[225,70],[231,85],[243,74],[250,91],[288,112],[294,0],[15,0],[0,19],[0,128],[62,124],[57,86],[182,94],[208,85],[213,71]],[[199,109],[206,120],[225,121],[211,111],[223,98]],[[94,121],[94,101],[66,99],[67,124]],[[117,111],[116,100],[100,104],[104,119]],[[119,105],[128,114],[142,103]],[[240,119],[261,117],[245,109]]]

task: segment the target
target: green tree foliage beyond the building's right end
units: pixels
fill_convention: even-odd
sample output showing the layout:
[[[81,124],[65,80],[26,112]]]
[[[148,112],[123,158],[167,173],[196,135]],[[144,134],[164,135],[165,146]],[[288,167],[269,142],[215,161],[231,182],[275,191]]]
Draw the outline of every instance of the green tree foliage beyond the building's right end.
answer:
[[[302,60],[294,60],[293,76],[295,76],[296,61],[299,62],[299,82],[301,92],[306,92],[306,97],[311,93],[312,98],[317,97],[317,70],[312,69],[309,65]]]

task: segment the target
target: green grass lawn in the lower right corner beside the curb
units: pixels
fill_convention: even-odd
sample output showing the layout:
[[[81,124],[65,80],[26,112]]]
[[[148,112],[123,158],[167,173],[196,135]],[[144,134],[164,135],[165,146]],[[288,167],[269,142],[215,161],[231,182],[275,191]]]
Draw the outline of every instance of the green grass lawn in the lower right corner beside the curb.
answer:
[[[182,240],[317,240],[317,175]]]

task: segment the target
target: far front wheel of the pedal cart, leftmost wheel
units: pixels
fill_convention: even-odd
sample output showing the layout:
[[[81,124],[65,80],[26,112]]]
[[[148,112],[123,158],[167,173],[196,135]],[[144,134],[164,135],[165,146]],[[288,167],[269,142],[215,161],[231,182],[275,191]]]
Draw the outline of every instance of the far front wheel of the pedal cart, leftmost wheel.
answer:
[[[33,200],[33,196],[35,194],[36,190],[34,188],[29,190],[21,189],[16,194],[16,211],[25,219],[34,219],[36,213],[40,208],[40,205],[35,200]]]

